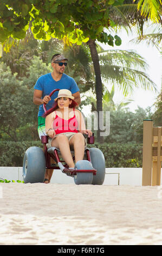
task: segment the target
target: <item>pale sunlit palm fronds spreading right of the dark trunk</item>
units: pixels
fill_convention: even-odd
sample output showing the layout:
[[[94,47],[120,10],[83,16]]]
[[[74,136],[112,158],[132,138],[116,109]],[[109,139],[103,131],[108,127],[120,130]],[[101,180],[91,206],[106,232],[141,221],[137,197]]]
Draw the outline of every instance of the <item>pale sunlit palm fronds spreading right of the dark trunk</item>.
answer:
[[[103,80],[118,86],[124,95],[134,88],[156,90],[155,83],[146,74],[144,58],[132,50],[108,50],[99,53]]]

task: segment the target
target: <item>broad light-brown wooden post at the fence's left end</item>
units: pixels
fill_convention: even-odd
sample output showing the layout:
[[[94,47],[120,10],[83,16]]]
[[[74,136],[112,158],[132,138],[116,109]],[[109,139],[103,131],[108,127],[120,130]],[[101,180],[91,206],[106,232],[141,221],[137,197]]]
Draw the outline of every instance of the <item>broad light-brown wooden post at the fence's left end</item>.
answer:
[[[142,186],[151,186],[153,120],[143,120],[143,127]]]

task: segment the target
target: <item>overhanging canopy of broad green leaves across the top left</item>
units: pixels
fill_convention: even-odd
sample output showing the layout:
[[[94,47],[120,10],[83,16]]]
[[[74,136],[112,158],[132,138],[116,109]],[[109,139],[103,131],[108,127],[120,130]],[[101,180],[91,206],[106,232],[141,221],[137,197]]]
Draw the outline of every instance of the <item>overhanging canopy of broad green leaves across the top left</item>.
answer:
[[[67,36],[73,44],[81,45],[90,39],[98,39],[109,45],[120,45],[116,35],[103,32],[103,28],[113,26],[109,17],[109,8],[122,4],[123,0],[15,0],[0,3],[0,41],[3,43],[10,36],[23,39],[31,25],[34,38],[49,40],[63,39]]]

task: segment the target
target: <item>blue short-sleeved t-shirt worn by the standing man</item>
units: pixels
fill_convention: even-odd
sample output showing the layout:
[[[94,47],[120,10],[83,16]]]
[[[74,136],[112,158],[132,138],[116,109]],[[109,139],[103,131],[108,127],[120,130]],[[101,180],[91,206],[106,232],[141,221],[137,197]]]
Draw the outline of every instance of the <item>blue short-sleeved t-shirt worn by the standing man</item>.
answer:
[[[54,89],[67,89],[70,90],[72,94],[79,92],[79,87],[77,86],[75,80],[66,74],[62,74],[61,79],[57,82],[53,79],[51,73],[40,76],[36,81],[34,89],[42,90],[42,99],[44,96],[49,95]],[[51,96],[51,100],[46,105],[47,110],[53,106],[54,99],[57,97],[58,93],[59,91],[55,92]],[[42,104],[39,107],[38,117],[41,117],[43,114],[44,109]]]

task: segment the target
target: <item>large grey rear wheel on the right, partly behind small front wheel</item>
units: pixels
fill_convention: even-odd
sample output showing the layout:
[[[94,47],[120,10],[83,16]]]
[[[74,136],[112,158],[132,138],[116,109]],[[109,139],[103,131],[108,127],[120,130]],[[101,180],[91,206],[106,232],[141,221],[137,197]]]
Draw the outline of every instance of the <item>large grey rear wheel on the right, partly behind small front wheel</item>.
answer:
[[[93,185],[102,185],[105,180],[105,157],[98,148],[89,148],[92,166],[96,169],[96,175],[93,176]]]

